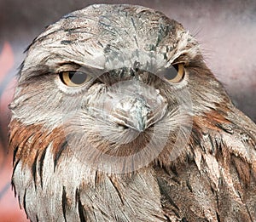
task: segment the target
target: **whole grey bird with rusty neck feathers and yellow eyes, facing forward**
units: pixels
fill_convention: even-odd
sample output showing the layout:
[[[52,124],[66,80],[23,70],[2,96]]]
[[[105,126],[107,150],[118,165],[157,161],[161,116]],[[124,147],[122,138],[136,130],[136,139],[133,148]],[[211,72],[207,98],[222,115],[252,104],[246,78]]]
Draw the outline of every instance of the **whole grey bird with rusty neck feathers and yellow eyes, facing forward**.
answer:
[[[256,221],[256,126],[176,20],[64,15],[26,49],[9,105],[31,221]]]

